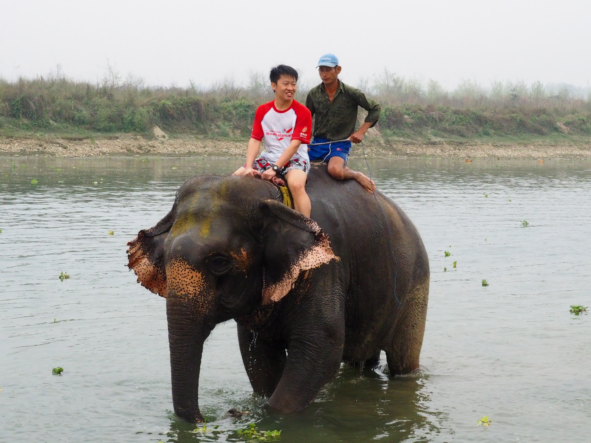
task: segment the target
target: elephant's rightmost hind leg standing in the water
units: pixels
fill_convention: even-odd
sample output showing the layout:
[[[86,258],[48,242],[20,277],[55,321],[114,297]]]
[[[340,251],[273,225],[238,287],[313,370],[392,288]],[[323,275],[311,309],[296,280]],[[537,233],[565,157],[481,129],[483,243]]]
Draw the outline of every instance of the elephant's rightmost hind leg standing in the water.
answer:
[[[384,346],[391,375],[408,374],[418,369],[425,333],[428,297],[429,276],[427,274],[419,281],[413,282],[389,343]]]

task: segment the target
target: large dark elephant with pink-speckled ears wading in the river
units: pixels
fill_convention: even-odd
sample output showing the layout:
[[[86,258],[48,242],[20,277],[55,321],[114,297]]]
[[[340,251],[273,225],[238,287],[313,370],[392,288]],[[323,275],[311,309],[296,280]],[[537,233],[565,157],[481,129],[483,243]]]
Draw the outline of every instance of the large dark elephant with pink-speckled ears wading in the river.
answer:
[[[174,411],[202,422],[203,342],[234,319],[258,395],[305,409],[342,362],[417,370],[429,289],[427,253],[407,215],[380,191],[313,165],[311,217],[255,177],[193,177],[172,209],[128,243],[138,282],[165,297]]]

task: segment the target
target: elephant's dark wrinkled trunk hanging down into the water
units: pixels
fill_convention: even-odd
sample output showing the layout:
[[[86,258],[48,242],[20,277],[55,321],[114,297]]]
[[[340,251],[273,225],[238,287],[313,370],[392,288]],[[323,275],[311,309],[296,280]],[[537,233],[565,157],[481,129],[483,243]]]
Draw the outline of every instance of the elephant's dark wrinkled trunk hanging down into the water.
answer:
[[[183,299],[167,299],[168,344],[174,412],[190,422],[203,422],[199,411],[199,373],[203,342],[211,328]]]

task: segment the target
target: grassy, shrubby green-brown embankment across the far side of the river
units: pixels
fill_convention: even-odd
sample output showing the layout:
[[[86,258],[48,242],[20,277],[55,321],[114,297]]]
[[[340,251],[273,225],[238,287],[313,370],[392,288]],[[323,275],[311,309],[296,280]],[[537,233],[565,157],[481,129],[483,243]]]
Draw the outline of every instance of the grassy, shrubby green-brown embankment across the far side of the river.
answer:
[[[551,95],[540,84],[530,88],[496,84],[486,92],[463,83],[446,92],[432,83],[426,89],[385,71],[368,87],[382,105],[376,128],[385,142],[576,144],[591,140],[591,99],[570,97],[568,92]],[[95,144],[98,137],[119,133],[151,136],[157,125],[172,135],[242,140],[250,135],[256,107],[271,97],[262,80],[248,87],[220,84],[199,90],[145,87],[113,79],[80,82],[63,76],[0,79],[0,136],[52,136]],[[296,99],[304,102],[305,97],[303,85]]]

